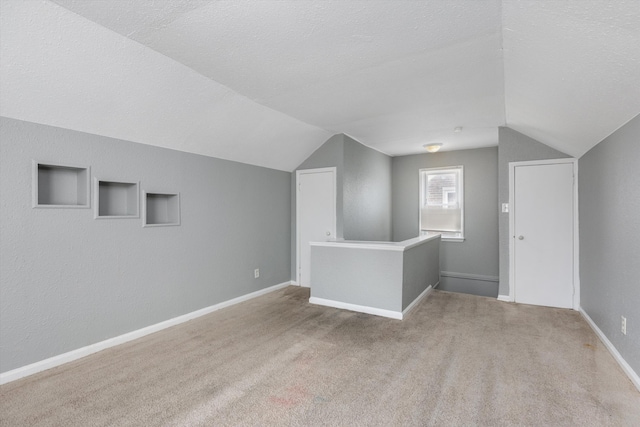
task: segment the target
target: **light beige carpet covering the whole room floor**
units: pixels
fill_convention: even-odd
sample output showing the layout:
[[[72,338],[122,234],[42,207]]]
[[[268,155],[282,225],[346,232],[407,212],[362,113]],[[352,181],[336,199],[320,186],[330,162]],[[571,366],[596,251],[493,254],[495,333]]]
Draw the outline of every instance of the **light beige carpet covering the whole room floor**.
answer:
[[[640,425],[581,316],[435,291],[404,321],[288,287],[0,388],[3,426]]]

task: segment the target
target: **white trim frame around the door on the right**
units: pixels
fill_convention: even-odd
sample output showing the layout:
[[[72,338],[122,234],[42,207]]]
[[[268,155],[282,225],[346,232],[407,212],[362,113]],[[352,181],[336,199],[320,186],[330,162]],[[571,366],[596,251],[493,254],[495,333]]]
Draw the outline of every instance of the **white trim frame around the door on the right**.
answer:
[[[518,166],[538,166],[569,163],[573,165],[573,309],[580,309],[580,236],[578,224],[578,159],[530,160],[509,162],[509,301],[516,300],[515,280],[515,168]]]

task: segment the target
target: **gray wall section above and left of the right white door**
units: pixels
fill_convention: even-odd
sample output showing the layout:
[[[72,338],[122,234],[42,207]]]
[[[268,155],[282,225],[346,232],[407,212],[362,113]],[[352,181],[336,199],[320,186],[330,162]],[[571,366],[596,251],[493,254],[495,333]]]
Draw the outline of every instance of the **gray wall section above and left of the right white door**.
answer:
[[[513,129],[498,129],[498,194],[499,202],[509,202],[509,162],[527,160],[562,159],[571,157]],[[509,214],[500,213],[500,295],[509,295]]]

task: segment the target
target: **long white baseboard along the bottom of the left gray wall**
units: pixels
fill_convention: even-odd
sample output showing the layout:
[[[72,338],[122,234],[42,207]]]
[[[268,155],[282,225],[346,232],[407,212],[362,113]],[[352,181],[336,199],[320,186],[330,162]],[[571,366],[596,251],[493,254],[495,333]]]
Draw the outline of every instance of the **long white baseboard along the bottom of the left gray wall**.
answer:
[[[155,325],[147,326],[145,328],[138,329],[136,331],[128,332],[126,334],[123,334],[117,337],[109,338],[107,340],[100,341],[98,343],[91,344],[86,347],[81,347],[76,350],[71,350],[67,353],[59,354],[57,356],[53,356],[48,359],[41,360],[39,362],[31,363],[29,365],[22,366],[20,368],[13,369],[11,371],[3,372],[0,374],[0,384],[6,384],[11,381],[24,378],[26,376],[45,371],[47,369],[55,368],[56,366],[60,366],[64,363],[72,362],[74,360],[80,359],[82,357],[88,356],[93,353],[97,353],[98,351],[107,349],[109,347],[114,347],[119,344],[124,344],[126,342],[135,340],[137,338],[144,337],[145,335],[149,335],[154,332],[161,331],[162,329],[170,328],[171,326],[175,326],[180,323],[193,320],[200,316],[204,316],[205,314],[212,313],[222,308],[229,307],[231,305],[238,304],[238,303],[250,300],[252,298],[256,298],[256,297],[268,294],[269,292],[277,291],[278,289],[287,287],[290,284],[291,282],[284,282],[278,285],[270,286],[265,289],[260,289],[259,291],[251,292],[250,294],[242,295],[237,298],[230,299],[228,301],[224,301],[200,310],[193,311],[191,313],[183,314],[182,316],[174,317],[173,319],[165,320],[164,322],[156,323]]]

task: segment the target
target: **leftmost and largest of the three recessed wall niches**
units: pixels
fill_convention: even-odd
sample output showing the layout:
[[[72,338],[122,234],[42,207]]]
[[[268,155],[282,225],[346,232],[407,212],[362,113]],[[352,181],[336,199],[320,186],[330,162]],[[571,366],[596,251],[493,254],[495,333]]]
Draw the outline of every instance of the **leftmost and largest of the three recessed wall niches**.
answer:
[[[32,162],[34,208],[88,208],[89,167]]]

